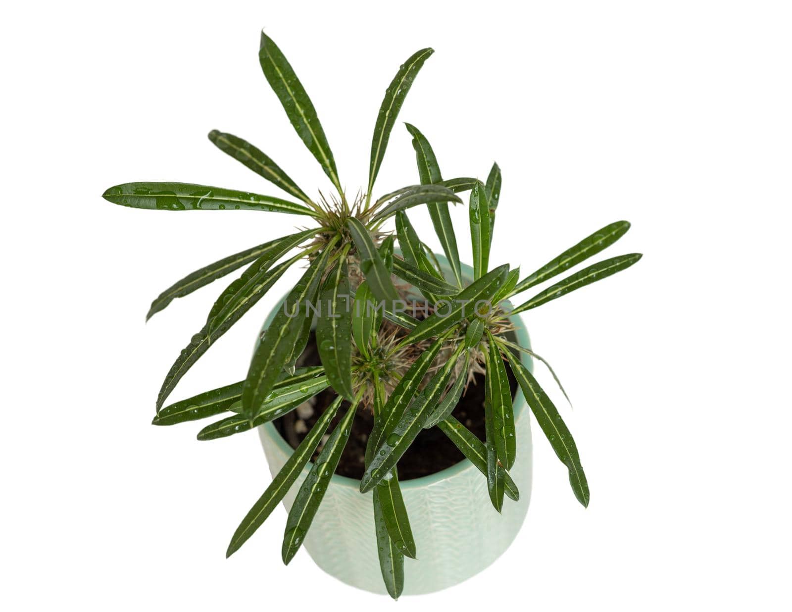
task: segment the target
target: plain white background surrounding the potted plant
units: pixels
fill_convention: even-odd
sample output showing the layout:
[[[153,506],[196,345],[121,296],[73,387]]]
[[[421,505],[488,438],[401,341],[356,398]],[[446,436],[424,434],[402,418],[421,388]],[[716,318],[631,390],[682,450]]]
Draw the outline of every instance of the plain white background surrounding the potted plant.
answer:
[[[3,13],[4,609],[789,610],[788,3],[160,0]],[[200,443],[200,425],[149,424],[225,282],[144,324],[150,300],[295,218],[134,210],[104,189],[274,193],[209,143],[212,128],[256,143],[309,193],[329,187],[261,75],[261,26],[313,99],[349,191],[366,182],[386,85],[430,45],[380,191],[417,178],[409,120],[446,177],[500,164],[494,264],[528,272],[619,219],[633,228],[603,257],[645,254],[525,317],[575,404],[564,414],[590,507],[535,438],[523,530],[450,591],[391,604],[304,551],[284,568],[280,509],[225,560],[269,481],[257,436]],[[454,215],[470,261],[465,209]],[[428,216],[413,218],[428,236]],[[244,376],[288,280],[173,399]]]

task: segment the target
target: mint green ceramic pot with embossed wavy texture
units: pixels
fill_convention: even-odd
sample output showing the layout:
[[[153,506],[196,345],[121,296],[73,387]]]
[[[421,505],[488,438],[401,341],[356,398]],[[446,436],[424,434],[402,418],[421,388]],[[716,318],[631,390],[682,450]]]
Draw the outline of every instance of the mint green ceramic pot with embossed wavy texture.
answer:
[[[447,262],[438,255],[441,264]],[[450,273],[450,270],[445,270]],[[469,279],[473,270],[463,266]],[[276,311],[268,316],[268,327]],[[530,347],[519,316],[512,318],[520,346]],[[532,369],[530,358],[524,363]],[[522,393],[514,398],[516,463],[509,474],[520,500],[505,499],[498,514],[489,501],[487,481],[467,459],[442,472],[402,481],[402,495],[417,546],[417,560],[405,558],[403,595],[421,595],[452,587],[487,568],[508,549],[522,526],[531,500],[532,444],[529,410]],[[272,423],[258,428],[274,477],[291,456],[291,446]],[[287,511],[310,471],[309,463],[284,498]],[[371,492],[360,493],[360,481],[333,474],[322,505],[303,546],[330,576],[352,587],[386,595],[379,570]]]

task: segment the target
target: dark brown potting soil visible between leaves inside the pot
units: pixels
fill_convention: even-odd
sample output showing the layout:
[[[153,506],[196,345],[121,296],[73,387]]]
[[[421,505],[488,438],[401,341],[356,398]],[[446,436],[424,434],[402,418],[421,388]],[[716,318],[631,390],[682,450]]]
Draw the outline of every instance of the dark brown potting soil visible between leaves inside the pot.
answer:
[[[299,362],[300,365],[321,365],[313,332],[311,332],[308,345]],[[508,384],[512,389],[512,396],[514,396],[517,382],[512,376],[510,369],[506,368],[506,373],[508,374]],[[273,422],[276,430],[280,432],[292,448],[297,448],[319,416],[322,415],[322,412],[335,399],[336,392],[332,388],[326,388],[318,396],[314,397],[313,414],[302,419],[298,411],[291,411]],[[328,433],[333,430],[341,420],[341,417],[345,415],[348,407],[349,403],[347,401],[341,404],[337,415],[333,418],[333,423],[330,424],[327,430]],[[457,404],[452,414],[460,423],[463,423],[464,426],[476,434],[482,442],[485,440],[484,377],[481,374],[476,374],[474,382],[468,385],[465,395],[459,400],[459,404]],[[360,480],[363,476],[366,443],[373,424],[374,416],[371,415],[371,412],[367,409],[359,408],[355,419],[352,421],[352,432],[349,435],[349,441],[335,472],[339,476],[348,476],[357,480]],[[317,456],[318,449],[314,456],[311,457],[311,460],[314,461]],[[398,461],[398,477],[399,480],[410,480],[428,476],[450,468],[451,465],[459,463],[463,459],[463,454],[438,427],[421,430],[413,444],[409,446],[409,449]]]

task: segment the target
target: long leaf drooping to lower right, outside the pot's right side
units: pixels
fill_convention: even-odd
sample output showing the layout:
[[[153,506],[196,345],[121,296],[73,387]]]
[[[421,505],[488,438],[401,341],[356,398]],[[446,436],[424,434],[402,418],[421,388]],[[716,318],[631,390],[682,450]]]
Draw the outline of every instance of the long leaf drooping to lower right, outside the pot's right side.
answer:
[[[512,373],[520,383],[523,395],[528,406],[536,417],[537,423],[542,428],[546,438],[550,441],[558,459],[569,469],[569,484],[577,498],[577,501],[588,506],[589,492],[588,481],[586,480],[581,457],[577,453],[577,446],[569,433],[558,409],[550,398],[539,386],[536,379],[528,369],[512,355],[511,351],[505,351],[509,365],[512,366]]]

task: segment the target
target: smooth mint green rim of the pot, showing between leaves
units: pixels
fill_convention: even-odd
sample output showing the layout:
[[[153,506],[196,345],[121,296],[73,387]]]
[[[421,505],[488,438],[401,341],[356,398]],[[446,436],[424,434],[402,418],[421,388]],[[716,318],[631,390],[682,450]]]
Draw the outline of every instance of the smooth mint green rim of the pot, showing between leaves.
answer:
[[[398,253],[400,251],[396,249],[395,252]],[[447,258],[445,258],[444,255],[436,253],[435,256],[437,260],[440,262],[440,264],[444,266],[448,266],[448,260]],[[462,273],[464,275],[468,275],[468,276],[473,275],[473,268],[468,266],[466,263],[462,263],[460,264],[460,266],[462,268]],[[275,316],[277,309],[280,308],[280,304],[282,304],[283,300],[285,299],[286,296],[284,295],[284,298],[282,300],[278,300],[278,305],[275,308],[272,308],[272,311],[265,319],[265,326],[268,327],[269,323],[272,323],[272,318]],[[508,300],[505,300],[505,306],[506,308],[512,308],[512,304]],[[508,319],[509,321],[512,322],[512,324],[515,327],[514,334],[517,337],[517,344],[523,346],[524,348],[530,348],[531,338],[528,335],[527,329],[523,324],[522,317],[520,315],[515,315],[515,316],[510,316]],[[527,368],[533,369],[531,358],[527,354],[521,354],[520,361],[522,361]],[[513,407],[514,419],[516,421],[518,417],[522,414],[524,407],[526,406],[525,398],[523,397],[523,393],[520,390],[520,387],[517,388],[515,395],[512,398],[512,403],[514,405]],[[278,449],[280,449],[287,455],[291,455],[291,453],[294,453],[295,449],[291,448],[291,445],[288,442],[286,442],[286,439],[280,434],[280,431],[276,430],[275,425],[272,423],[272,421],[268,421],[267,423],[260,425],[259,428],[261,430],[264,430],[265,433],[268,434],[268,436],[275,441],[275,444],[278,447]],[[310,470],[313,467],[313,465],[314,465],[313,461],[308,461],[304,469]],[[447,478],[456,476],[457,474],[464,472],[466,469],[476,469],[476,468],[470,462],[470,459],[465,457],[462,461],[459,461],[458,463],[455,463],[454,465],[451,465],[446,469],[441,469],[440,472],[434,472],[433,474],[428,474],[428,476],[410,478],[409,480],[399,480],[398,484],[399,487],[402,488],[402,490],[411,489],[411,488],[429,487],[432,484],[440,482],[441,480],[446,480]],[[355,478],[350,478],[349,476],[339,476],[338,474],[334,473],[333,476],[330,476],[330,482],[336,484],[337,486],[354,488],[356,491],[360,490],[360,480],[356,480]]]

